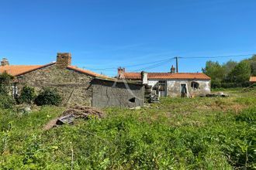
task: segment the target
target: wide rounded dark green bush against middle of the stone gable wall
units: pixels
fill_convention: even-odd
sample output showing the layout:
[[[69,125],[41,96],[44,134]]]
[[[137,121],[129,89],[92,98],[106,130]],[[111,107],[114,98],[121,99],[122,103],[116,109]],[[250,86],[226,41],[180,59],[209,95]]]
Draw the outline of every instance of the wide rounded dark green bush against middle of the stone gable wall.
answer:
[[[46,88],[42,90],[35,99],[35,104],[38,106],[43,105],[55,105],[61,104],[61,95],[57,93],[56,89]]]

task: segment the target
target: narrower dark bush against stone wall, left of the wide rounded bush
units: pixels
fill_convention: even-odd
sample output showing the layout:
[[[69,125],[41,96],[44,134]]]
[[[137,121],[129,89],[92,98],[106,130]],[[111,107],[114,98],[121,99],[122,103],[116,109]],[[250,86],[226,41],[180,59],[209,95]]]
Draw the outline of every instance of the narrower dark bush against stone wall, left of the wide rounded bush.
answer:
[[[19,103],[33,104],[36,98],[35,89],[33,87],[23,87],[19,97]]]

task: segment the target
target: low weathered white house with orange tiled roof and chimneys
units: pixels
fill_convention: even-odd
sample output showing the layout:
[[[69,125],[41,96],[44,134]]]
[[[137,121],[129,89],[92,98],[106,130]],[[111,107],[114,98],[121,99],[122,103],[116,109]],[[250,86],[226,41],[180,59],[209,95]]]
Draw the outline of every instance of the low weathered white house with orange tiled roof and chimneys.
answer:
[[[118,69],[118,78],[139,80],[151,87],[159,97],[197,97],[211,92],[210,77],[204,73],[128,73]]]

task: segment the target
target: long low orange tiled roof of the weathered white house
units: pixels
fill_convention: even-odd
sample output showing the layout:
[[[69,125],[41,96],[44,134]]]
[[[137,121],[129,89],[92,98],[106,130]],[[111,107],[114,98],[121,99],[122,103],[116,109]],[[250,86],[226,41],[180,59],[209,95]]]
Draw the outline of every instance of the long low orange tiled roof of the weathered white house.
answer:
[[[126,79],[140,80],[140,73],[124,73]],[[199,79],[210,80],[211,78],[204,73],[147,73],[148,79],[153,80],[169,80],[169,79]]]

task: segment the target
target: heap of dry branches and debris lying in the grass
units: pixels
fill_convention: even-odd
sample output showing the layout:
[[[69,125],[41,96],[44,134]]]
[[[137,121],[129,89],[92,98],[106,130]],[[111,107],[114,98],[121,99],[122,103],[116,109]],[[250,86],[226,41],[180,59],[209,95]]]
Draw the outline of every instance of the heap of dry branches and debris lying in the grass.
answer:
[[[86,120],[90,117],[102,118],[104,117],[104,113],[94,107],[73,107],[65,110],[63,114],[61,114],[61,117],[57,117],[50,121],[44,126],[43,130],[49,130],[50,128],[54,128],[62,124],[74,124],[75,119],[82,118]]]

